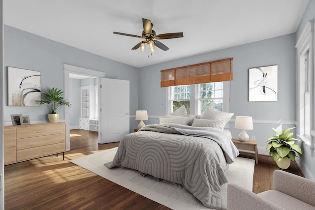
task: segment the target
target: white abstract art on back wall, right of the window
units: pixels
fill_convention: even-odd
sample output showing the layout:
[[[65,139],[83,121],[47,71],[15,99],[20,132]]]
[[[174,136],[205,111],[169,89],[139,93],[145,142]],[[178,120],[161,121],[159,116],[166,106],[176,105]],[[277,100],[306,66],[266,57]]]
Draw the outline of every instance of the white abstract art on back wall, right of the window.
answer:
[[[249,69],[249,101],[278,100],[278,65]]]

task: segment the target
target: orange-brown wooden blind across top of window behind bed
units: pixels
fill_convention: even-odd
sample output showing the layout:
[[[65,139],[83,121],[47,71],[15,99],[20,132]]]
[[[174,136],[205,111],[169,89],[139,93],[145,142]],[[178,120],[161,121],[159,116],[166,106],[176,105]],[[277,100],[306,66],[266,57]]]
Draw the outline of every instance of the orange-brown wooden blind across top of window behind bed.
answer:
[[[233,80],[233,58],[161,70],[161,87]]]

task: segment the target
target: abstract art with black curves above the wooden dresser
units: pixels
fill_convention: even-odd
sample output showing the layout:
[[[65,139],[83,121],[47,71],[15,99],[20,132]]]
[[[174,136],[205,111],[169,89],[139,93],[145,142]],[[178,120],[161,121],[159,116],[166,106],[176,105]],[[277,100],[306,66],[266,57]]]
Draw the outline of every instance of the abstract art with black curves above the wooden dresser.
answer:
[[[39,106],[40,71],[8,67],[8,106]]]

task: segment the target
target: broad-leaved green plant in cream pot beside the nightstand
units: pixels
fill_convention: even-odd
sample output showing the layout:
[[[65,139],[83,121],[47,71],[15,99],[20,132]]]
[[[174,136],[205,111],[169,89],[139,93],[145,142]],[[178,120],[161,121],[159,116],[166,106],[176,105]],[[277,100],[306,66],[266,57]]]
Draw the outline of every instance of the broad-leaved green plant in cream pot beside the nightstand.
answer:
[[[302,150],[295,141],[301,141],[292,138],[293,132],[286,133],[296,127],[290,127],[283,132],[272,128],[278,136],[269,136],[267,139],[268,145],[266,151],[269,150],[269,154],[276,161],[277,165],[282,169],[287,169],[290,166],[291,160],[294,161],[296,154],[301,157]]]

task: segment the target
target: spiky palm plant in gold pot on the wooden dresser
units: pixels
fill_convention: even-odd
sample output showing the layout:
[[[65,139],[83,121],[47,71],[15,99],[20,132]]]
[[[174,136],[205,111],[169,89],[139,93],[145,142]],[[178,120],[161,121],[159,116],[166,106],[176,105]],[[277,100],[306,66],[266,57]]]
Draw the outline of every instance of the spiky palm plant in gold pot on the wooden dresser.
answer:
[[[63,99],[63,90],[58,90],[57,88],[52,88],[48,92],[42,92],[45,100],[36,100],[38,104],[47,104],[51,114],[48,114],[48,119],[50,122],[58,122],[59,114],[56,113],[57,109],[61,105],[70,107],[71,104]]]

